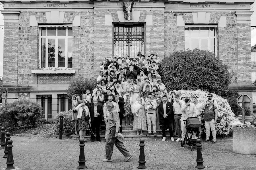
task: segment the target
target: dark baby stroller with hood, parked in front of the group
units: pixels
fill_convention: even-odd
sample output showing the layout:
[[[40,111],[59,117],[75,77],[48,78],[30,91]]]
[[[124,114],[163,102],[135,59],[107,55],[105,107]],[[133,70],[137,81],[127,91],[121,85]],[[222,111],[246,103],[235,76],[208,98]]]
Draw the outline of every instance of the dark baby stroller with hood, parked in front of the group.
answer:
[[[181,141],[181,147],[185,145],[185,142],[187,145],[190,146],[191,151],[193,150],[193,146],[196,146],[197,139],[201,139],[201,136],[199,138],[199,128],[201,127],[201,123],[197,117],[191,117],[187,118],[187,120],[183,120],[184,123],[187,122],[186,128],[186,135],[184,141]],[[190,133],[191,135],[189,136]],[[202,143],[202,139],[201,139]]]

